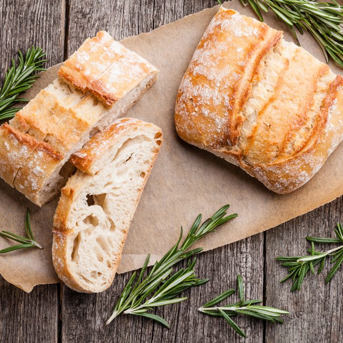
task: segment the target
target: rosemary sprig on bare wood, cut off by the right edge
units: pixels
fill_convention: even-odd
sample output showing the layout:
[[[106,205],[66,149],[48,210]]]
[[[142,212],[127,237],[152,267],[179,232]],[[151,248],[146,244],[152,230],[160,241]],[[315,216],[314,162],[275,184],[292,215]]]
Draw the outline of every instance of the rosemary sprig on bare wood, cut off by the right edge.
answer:
[[[341,223],[337,224],[335,233],[337,238],[306,237],[306,240],[311,243],[311,249],[308,250],[310,255],[277,257],[276,260],[281,261],[282,266],[287,267],[289,272],[281,282],[292,278],[293,285],[291,291],[299,291],[307,273],[311,271],[314,274],[314,267],[319,265],[317,274],[320,274],[324,268],[326,258],[332,256],[331,264],[334,265],[325,278],[325,282],[329,282],[343,263],[343,228]],[[315,243],[341,243],[341,245],[325,252],[320,252],[315,249]]]

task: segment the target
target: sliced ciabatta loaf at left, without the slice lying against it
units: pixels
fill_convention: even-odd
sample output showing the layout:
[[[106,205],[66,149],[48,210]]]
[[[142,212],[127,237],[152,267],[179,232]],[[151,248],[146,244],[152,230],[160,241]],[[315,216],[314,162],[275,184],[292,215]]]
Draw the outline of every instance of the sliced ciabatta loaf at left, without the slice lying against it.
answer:
[[[67,163],[72,153],[122,116],[157,73],[108,33],[88,38],[62,65],[60,77],[0,129],[0,176],[42,206],[73,172]],[[15,149],[6,148],[13,144]]]

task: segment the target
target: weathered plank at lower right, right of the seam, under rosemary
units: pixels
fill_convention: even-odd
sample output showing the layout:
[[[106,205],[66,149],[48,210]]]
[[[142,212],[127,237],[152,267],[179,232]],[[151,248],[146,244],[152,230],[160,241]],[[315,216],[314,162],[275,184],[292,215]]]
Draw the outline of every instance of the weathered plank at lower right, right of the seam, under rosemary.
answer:
[[[299,292],[290,292],[291,281],[279,284],[287,269],[275,261],[276,256],[303,255],[310,247],[308,235],[334,237],[336,222],[342,221],[343,197],[301,217],[295,218],[266,233],[266,295],[267,303],[288,309],[284,325],[266,327],[266,342],[342,342],[343,269],[329,284],[322,274],[306,277]],[[320,245],[325,251],[328,245]]]

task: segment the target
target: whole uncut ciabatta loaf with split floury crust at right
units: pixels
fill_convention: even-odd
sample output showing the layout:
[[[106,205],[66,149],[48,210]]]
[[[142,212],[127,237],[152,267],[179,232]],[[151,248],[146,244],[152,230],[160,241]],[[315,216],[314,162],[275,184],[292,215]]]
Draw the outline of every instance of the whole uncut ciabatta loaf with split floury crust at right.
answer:
[[[285,194],[343,139],[343,78],[282,32],[220,8],[181,81],[179,136]]]

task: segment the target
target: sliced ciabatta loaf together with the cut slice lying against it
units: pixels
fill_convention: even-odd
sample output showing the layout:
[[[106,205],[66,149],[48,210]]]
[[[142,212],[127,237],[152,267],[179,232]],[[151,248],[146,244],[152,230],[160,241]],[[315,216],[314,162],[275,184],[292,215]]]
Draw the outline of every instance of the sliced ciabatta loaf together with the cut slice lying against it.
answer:
[[[108,288],[121,260],[162,132],[151,123],[117,118],[157,73],[100,31],[0,126],[0,176],[9,185],[42,206],[69,179],[54,217],[52,260],[60,279],[76,291]]]

